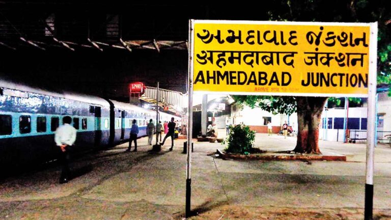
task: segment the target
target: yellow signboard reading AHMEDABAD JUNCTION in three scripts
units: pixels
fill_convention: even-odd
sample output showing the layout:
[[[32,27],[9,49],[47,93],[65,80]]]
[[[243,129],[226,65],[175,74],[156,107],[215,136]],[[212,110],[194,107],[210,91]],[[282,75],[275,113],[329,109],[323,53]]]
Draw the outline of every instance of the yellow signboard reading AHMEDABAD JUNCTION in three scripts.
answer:
[[[194,92],[368,96],[369,23],[193,25]]]

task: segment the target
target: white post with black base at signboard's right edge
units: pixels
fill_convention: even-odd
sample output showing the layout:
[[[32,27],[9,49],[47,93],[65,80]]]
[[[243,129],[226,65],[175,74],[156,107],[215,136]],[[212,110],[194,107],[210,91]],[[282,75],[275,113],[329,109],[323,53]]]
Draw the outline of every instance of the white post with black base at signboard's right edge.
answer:
[[[373,171],[376,130],[376,77],[377,77],[377,22],[371,23],[369,38],[369,78],[368,78],[368,127],[367,164],[365,184],[364,219],[373,219]]]

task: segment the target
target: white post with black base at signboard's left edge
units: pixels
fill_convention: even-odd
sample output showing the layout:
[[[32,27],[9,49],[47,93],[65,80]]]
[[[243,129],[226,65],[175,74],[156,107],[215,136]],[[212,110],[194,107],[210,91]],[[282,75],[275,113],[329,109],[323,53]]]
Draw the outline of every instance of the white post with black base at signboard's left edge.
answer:
[[[185,217],[190,216],[191,201],[191,137],[193,130],[193,37],[194,37],[194,20],[189,20],[189,64],[188,64],[188,96],[189,103],[187,106],[188,127],[187,127],[187,166],[186,166],[186,213]]]

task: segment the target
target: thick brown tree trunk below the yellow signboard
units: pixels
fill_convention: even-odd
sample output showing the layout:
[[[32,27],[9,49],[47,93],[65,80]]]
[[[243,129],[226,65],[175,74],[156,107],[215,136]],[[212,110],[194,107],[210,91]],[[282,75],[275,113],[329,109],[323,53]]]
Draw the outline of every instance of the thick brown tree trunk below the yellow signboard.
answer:
[[[316,153],[319,150],[319,122],[327,97],[296,97],[297,102],[297,153]]]

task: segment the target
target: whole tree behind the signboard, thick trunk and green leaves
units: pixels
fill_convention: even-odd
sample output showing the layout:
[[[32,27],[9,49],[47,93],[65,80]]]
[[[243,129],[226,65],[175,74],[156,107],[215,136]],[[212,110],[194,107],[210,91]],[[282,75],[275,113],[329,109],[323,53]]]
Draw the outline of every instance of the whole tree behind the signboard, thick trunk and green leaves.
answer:
[[[323,22],[378,22],[378,84],[391,82],[391,8],[388,1],[369,0],[274,0],[270,20]],[[391,95],[389,92],[388,95]],[[321,153],[319,123],[327,97],[233,96],[239,103],[260,107],[273,114],[297,112],[297,143],[293,151]],[[357,99],[350,99],[356,101]]]

